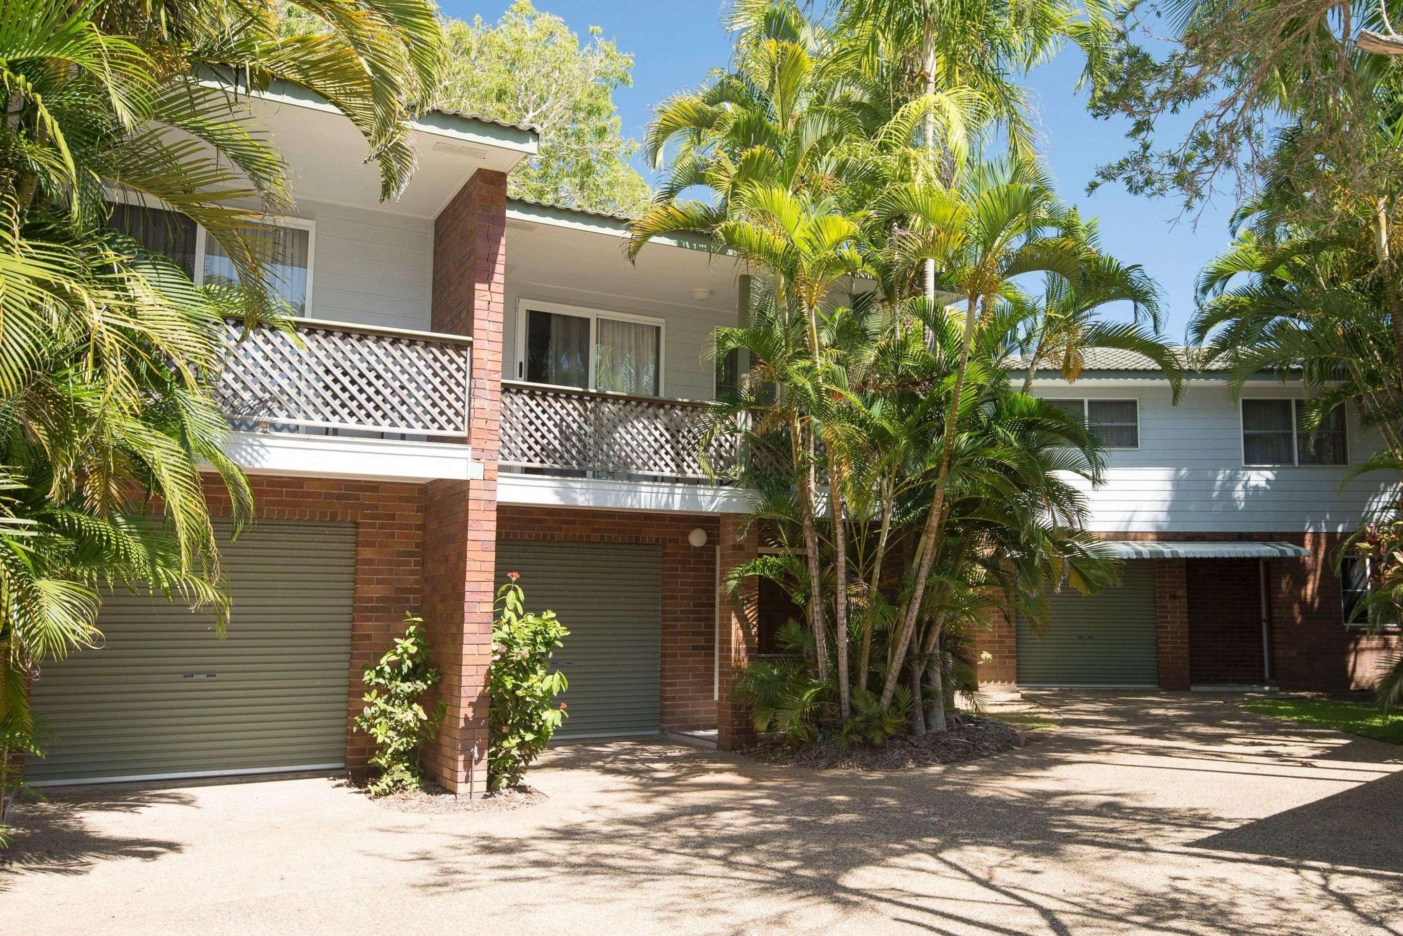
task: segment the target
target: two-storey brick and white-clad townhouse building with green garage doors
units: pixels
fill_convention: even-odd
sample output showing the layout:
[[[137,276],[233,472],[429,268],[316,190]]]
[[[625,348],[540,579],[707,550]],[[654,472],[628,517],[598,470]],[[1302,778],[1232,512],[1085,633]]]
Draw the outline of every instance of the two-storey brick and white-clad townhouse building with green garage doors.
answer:
[[[624,260],[623,219],[511,201],[532,128],[462,114],[414,125],[419,167],[377,201],[363,143],[331,108],[290,91],[250,98],[292,168],[295,216],[269,219],[300,344],[236,342],[223,389],[231,455],[258,522],[226,549],[233,620],[114,595],[105,646],[48,665],[35,711],[52,731],[39,783],[361,768],[349,724],[361,668],[425,619],[448,717],[427,766],[448,789],[485,786],[492,596],[522,574],[532,608],[571,630],[564,735],[716,730],[745,737],[735,674],[783,613],[725,568],[742,493],[697,455],[704,354],[739,320],[744,278],[702,239]],[[227,276],[203,234],[112,194],[116,223]],[[1347,463],[1357,425],[1327,445],[1295,432],[1299,386],[1236,401],[1195,377],[1179,406],[1143,362],[1103,359],[1075,385],[1037,375],[1113,442],[1090,491],[1094,529],[1125,563],[1120,588],[1055,599],[1038,637],[995,620],[982,682],[1344,689],[1390,639],[1345,627],[1357,589],[1331,547],[1388,494]],[[217,487],[216,511],[227,512]]]

